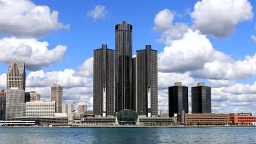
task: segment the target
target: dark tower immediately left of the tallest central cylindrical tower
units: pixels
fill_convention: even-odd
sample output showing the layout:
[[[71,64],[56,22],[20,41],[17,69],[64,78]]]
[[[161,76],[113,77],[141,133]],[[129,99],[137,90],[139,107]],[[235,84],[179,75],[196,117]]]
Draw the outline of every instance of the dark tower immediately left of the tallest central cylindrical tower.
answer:
[[[94,115],[114,116],[114,50],[94,50]]]

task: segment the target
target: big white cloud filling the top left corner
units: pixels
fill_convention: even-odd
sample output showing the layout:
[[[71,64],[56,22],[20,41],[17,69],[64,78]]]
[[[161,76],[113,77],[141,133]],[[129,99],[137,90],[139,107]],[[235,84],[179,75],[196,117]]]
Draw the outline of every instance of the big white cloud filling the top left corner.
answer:
[[[27,0],[0,0],[0,32],[16,37],[42,37],[60,28],[58,11]]]

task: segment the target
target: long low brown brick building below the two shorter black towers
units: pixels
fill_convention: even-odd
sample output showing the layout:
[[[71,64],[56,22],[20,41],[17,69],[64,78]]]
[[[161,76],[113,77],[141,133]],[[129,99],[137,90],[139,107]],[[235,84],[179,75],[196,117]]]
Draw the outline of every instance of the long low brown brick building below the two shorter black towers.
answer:
[[[185,113],[185,123],[230,123],[230,115],[225,113]],[[180,118],[178,118],[180,119]],[[179,121],[180,122],[180,121]]]

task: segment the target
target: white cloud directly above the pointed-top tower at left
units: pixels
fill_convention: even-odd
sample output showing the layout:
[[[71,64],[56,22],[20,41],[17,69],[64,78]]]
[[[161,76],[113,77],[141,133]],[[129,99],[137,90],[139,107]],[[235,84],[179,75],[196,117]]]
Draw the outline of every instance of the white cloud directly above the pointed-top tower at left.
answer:
[[[67,49],[65,45],[57,45],[54,49],[48,48],[46,41],[26,38],[0,39],[0,62],[25,61],[26,69],[39,70],[51,64],[62,61]]]

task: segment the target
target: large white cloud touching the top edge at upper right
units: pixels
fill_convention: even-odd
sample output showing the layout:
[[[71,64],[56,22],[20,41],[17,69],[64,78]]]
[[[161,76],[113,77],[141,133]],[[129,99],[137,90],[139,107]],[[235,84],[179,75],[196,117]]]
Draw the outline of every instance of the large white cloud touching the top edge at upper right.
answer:
[[[194,5],[194,28],[202,34],[226,38],[239,22],[252,20],[252,5],[247,0],[202,0]]]

